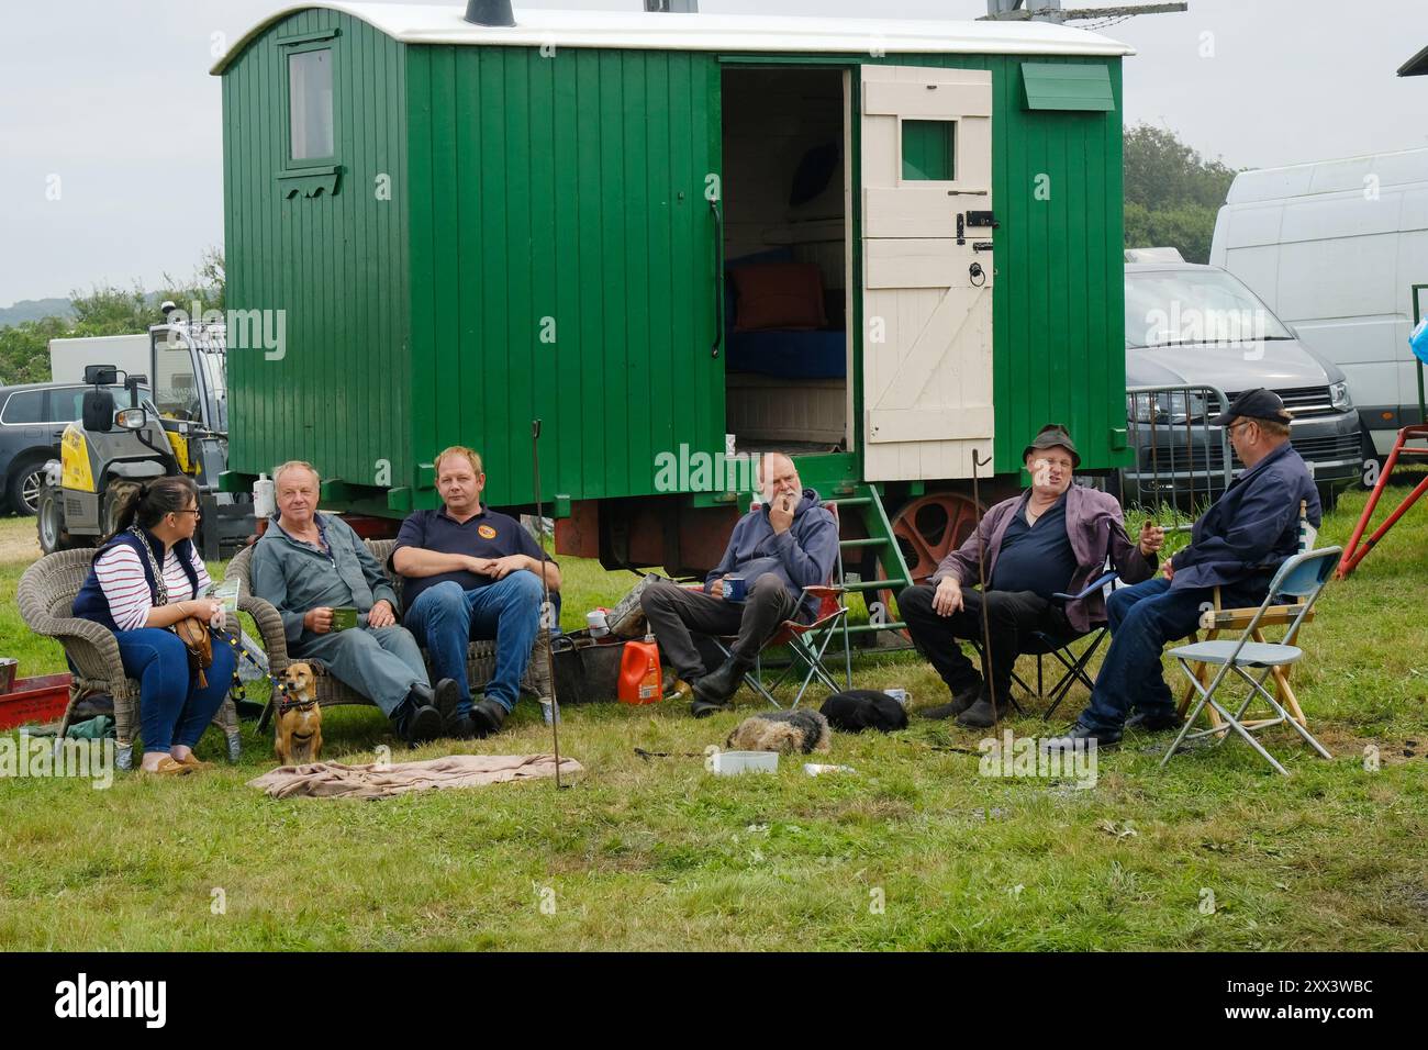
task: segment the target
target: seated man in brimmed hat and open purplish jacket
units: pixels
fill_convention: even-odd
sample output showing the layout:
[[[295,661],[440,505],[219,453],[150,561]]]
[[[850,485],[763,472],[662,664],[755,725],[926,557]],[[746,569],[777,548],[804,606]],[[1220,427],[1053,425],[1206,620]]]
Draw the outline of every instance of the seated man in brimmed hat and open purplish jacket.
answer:
[[[1140,543],[1131,543],[1114,496],[1071,484],[1081,456],[1065,427],[1042,427],[1022,461],[1031,489],[988,510],[977,530],[980,541],[977,533],[968,536],[942,559],[930,583],[898,596],[912,641],[952,694],[951,703],[924,710],[924,717],[955,716],[960,726],[981,729],[995,724],[1008,707],[1011,671],[1030,633],[1071,640],[1105,621],[1100,590],[1065,606],[1054,594],[1082,591],[1101,576],[1107,557],[1128,583],[1155,573],[1165,533],[1147,527]],[[975,590],[982,553],[985,594]],[[981,637],[984,603],[990,689],[958,643]]]

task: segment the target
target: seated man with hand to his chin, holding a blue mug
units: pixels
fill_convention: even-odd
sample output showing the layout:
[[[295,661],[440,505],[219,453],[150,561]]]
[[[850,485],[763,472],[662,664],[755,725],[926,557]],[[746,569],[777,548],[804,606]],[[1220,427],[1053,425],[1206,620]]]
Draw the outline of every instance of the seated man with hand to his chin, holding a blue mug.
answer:
[[[734,526],[724,557],[704,580],[703,591],[664,580],[640,596],[660,651],[694,691],[690,710],[695,719],[730,706],[778,624],[795,614],[811,620],[818,601],[803,589],[828,583],[838,557],[838,526],[818,493],[803,487],[788,456],[767,453],[758,464],[758,480],[764,506]],[[728,599],[728,576],[744,577],[745,600]],[[737,633],[733,656],[713,674],[705,673],[691,631]]]

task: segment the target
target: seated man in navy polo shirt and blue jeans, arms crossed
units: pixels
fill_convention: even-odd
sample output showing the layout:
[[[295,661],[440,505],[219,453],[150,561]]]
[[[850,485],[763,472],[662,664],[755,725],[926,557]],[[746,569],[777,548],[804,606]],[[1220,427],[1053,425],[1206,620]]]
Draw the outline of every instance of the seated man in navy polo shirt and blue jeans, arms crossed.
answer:
[[[436,471],[446,506],[401,523],[391,567],[406,580],[407,629],[426,643],[436,677],[461,691],[447,736],[484,737],[500,731],[520,694],[540,630],[540,573],[557,590],[560,567],[520,521],[481,503],[486,474],[471,449],[446,449]],[[471,639],[496,639],[496,673],[477,704],[466,677]]]

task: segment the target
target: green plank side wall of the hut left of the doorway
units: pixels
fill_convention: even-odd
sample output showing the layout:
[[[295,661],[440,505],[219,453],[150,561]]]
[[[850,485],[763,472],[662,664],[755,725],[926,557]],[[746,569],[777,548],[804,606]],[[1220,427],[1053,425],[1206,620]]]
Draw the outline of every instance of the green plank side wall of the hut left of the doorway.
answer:
[[[417,461],[471,444],[518,504],[537,417],[545,499],[651,494],[658,453],[723,447],[715,77],[691,53],[408,51]]]

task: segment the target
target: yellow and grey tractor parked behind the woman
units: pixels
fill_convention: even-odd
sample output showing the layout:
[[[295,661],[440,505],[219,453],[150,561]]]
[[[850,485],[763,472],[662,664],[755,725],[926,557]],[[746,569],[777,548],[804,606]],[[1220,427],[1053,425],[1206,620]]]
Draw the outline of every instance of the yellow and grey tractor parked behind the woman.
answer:
[[[246,494],[218,491],[228,460],[224,326],[170,320],[149,330],[150,374],[90,364],[83,417],[64,429],[60,459],[46,464],[37,529],[46,554],[94,546],[114,531],[130,491],[151,477],[187,474],[198,484],[203,517],[194,540],[204,559],[226,557],[253,534]],[[153,380],[150,383],[150,380]],[[129,403],[116,411],[106,386],[123,383]]]

